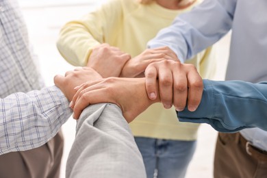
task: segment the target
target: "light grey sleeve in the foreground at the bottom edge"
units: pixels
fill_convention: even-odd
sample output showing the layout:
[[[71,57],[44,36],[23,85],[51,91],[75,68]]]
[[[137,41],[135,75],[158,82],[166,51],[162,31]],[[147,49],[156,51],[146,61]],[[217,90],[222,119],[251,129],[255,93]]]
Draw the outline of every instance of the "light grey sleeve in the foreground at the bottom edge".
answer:
[[[142,155],[117,105],[100,103],[82,112],[66,177],[146,177]]]

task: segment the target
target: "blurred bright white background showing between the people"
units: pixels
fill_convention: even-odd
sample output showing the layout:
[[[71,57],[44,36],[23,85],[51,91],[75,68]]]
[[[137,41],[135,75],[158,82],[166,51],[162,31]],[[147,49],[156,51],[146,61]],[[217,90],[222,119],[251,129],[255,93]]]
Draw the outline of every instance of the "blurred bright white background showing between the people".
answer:
[[[106,0],[20,0],[25,22],[29,31],[29,39],[40,61],[40,70],[47,86],[53,85],[53,77],[64,75],[75,68],[68,64],[58,53],[55,42],[64,23],[94,10]],[[205,0],[204,0],[205,1]],[[218,61],[216,80],[223,80],[229,55],[229,38],[220,40],[217,46]],[[64,155],[62,159],[61,177],[65,177],[65,166],[68,152],[75,138],[75,120],[70,118],[62,127],[64,133]],[[198,145],[186,178],[211,178],[213,156],[217,132],[209,125],[201,125]]]

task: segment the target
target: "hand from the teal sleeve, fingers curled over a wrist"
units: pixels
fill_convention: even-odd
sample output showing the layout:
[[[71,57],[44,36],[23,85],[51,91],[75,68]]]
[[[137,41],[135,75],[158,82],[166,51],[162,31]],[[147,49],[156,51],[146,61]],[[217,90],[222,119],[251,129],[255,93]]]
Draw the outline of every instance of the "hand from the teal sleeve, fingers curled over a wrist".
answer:
[[[203,81],[192,64],[181,64],[173,60],[164,60],[149,64],[145,71],[147,94],[150,99],[157,98],[157,79],[160,99],[165,108],[175,105],[182,111],[194,111],[201,102]]]

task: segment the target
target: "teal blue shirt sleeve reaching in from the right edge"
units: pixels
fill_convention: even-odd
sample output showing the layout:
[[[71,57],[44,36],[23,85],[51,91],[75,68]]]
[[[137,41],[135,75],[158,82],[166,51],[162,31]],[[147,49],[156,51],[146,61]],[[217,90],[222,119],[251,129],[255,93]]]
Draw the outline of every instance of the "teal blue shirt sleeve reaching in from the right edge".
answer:
[[[177,112],[179,121],[207,123],[217,131],[236,132],[259,127],[267,131],[267,81],[203,80],[203,97],[198,109]]]

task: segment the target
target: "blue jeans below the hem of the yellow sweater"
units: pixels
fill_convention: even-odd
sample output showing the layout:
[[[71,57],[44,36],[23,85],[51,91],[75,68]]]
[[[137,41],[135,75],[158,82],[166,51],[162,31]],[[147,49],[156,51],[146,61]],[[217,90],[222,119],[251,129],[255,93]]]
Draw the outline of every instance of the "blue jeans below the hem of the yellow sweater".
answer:
[[[162,140],[135,137],[147,178],[181,178],[186,176],[188,164],[196,149],[196,140]],[[157,176],[155,176],[157,175]]]

